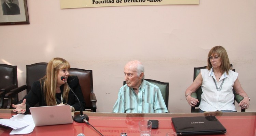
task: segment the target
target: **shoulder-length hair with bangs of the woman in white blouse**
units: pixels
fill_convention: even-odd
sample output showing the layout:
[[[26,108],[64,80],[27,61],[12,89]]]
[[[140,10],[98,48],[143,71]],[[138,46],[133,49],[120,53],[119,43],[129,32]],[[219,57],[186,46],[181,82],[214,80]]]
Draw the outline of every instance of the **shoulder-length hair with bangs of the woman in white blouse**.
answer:
[[[226,72],[228,74],[228,71],[230,69],[230,62],[229,62],[229,59],[228,59],[228,53],[227,51],[225,50],[224,47],[222,46],[215,46],[213,47],[209,53],[208,53],[208,58],[212,55],[212,54],[217,54],[218,57],[221,58],[221,72],[224,73]],[[212,64],[211,64],[211,61],[207,58],[207,62],[208,62],[208,65],[207,65],[207,69],[210,70],[212,68]]]

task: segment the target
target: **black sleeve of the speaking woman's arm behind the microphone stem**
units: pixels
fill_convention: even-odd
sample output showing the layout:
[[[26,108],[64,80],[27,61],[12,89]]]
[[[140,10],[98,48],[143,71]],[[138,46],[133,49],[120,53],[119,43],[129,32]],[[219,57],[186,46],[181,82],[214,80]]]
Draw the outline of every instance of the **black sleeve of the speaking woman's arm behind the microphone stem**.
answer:
[[[70,76],[68,79],[68,84],[69,84],[70,88],[74,91],[75,95],[78,97],[83,111],[85,111],[84,97],[83,97],[83,93],[82,93],[81,86],[79,84],[79,79],[77,78],[77,76]],[[75,108],[75,111],[80,111],[79,101],[77,100],[75,95],[73,94],[73,92],[71,90],[69,91],[69,97],[68,97],[67,104],[73,106]]]

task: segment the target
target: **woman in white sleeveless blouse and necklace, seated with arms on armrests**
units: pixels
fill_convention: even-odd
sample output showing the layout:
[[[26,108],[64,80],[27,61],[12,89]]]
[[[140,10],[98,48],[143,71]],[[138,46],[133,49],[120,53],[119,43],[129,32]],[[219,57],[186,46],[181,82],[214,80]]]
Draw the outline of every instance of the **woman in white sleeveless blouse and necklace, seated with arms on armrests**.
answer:
[[[249,107],[250,98],[241,87],[238,73],[230,70],[228,54],[222,46],[213,47],[208,53],[208,66],[201,69],[195,81],[186,89],[185,97],[190,106],[196,106],[198,99],[191,97],[202,86],[199,112],[236,112],[234,94],[243,97],[239,103],[242,109]]]

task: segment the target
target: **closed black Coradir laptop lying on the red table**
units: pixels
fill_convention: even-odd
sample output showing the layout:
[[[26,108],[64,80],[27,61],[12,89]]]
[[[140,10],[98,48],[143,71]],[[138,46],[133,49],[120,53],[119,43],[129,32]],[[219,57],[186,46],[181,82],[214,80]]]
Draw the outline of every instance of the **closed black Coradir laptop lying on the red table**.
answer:
[[[172,123],[177,135],[224,134],[227,132],[215,116],[173,117]]]

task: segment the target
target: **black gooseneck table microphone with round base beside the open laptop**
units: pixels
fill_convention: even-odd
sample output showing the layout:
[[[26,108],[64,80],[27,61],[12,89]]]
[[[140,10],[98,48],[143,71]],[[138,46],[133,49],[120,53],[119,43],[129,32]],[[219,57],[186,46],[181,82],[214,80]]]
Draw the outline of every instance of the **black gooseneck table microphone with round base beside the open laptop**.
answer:
[[[64,81],[68,87],[69,87],[69,84],[65,81],[65,78],[64,77],[61,77],[60,78],[62,81]],[[74,91],[69,87],[69,89],[73,92],[73,94],[75,95]],[[74,116],[74,121],[75,122],[79,122],[79,123],[83,123],[85,122],[84,120],[87,120],[89,121],[89,117],[86,115],[86,114],[83,114],[83,109],[82,109],[82,106],[81,106],[81,103],[80,103],[80,100],[78,99],[78,97],[75,95],[76,99],[78,100],[79,102],[79,107],[80,107],[80,115],[77,114]]]

